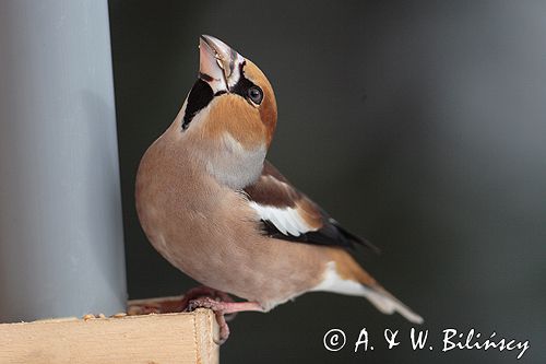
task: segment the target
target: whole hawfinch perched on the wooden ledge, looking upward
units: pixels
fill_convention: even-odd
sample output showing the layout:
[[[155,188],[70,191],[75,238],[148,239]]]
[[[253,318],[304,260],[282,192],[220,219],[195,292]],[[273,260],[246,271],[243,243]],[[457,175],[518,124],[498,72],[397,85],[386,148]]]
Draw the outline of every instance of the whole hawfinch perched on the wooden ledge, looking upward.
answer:
[[[384,314],[423,322],[353,258],[355,246],[370,244],[265,158],[277,122],[265,74],[210,35],[200,36],[199,54],[198,79],[135,180],[147,239],[203,284],[182,308],[215,312],[221,343],[229,336],[226,315],[266,313],[314,291],[363,296]]]

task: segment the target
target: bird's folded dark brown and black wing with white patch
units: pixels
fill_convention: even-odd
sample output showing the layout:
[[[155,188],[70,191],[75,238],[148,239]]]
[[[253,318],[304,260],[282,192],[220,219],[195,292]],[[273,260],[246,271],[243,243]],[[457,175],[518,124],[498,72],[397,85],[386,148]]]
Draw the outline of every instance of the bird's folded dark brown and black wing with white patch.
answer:
[[[249,204],[260,215],[265,234],[290,242],[353,247],[373,245],[343,228],[307,196],[297,190],[268,161],[260,178],[245,188]]]

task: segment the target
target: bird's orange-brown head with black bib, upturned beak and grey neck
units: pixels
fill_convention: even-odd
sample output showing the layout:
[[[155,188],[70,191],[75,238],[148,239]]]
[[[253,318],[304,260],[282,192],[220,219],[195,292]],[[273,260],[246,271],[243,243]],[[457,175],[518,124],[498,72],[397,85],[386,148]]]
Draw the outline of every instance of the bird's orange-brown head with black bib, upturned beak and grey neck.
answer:
[[[198,154],[207,158],[210,172],[241,188],[261,173],[275,131],[273,87],[254,63],[224,42],[202,35],[199,50],[199,77],[177,118],[177,132],[201,141],[197,148],[204,150]]]

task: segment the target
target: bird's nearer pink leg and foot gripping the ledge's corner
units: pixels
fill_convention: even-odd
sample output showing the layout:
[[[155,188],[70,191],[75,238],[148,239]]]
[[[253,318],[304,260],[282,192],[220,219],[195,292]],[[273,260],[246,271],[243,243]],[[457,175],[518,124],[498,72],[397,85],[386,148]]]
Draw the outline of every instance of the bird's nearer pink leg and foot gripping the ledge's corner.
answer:
[[[209,308],[216,315],[216,321],[219,326],[219,340],[217,344],[223,344],[229,337],[229,327],[227,326],[225,315],[236,314],[245,310],[263,312],[263,307],[257,302],[222,302],[211,297],[200,297],[190,301],[188,310],[195,308]]]

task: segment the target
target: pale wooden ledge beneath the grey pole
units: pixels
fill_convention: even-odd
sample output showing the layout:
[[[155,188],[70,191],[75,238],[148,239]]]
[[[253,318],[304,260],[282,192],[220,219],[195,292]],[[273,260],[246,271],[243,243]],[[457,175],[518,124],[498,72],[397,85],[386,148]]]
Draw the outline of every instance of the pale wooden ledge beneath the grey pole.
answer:
[[[218,362],[217,334],[207,309],[1,324],[0,363],[210,364]]]

